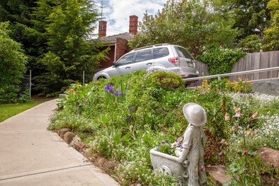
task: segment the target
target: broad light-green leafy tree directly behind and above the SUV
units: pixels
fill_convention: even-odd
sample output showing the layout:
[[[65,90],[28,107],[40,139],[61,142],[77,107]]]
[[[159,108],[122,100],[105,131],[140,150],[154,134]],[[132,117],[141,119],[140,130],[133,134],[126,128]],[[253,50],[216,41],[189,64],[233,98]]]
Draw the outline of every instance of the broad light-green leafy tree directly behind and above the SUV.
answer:
[[[232,46],[238,33],[232,29],[233,25],[225,1],[169,0],[155,16],[144,14],[140,23],[143,34],[135,36],[129,45],[135,48],[169,42],[188,47],[192,54],[199,55],[209,43]]]

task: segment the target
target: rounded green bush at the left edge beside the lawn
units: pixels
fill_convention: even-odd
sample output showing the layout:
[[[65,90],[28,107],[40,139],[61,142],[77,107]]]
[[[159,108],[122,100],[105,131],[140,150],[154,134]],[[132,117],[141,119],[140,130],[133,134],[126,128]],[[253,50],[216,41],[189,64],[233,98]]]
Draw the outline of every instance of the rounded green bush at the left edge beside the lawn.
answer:
[[[8,22],[0,22],[0,103],[14,102],[26,70],[27,56],[20,43],[8,36]]]

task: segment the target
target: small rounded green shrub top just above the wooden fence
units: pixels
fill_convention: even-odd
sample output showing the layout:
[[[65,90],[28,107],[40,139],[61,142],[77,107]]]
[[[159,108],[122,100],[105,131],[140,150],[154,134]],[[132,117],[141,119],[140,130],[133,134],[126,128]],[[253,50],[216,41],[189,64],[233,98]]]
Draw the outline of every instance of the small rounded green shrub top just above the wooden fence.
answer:
[[[239,47],[245,52],[259,52],[262,49],[261,42],[262,40],[260,40],[258,35],[250,35],[240,40]]]

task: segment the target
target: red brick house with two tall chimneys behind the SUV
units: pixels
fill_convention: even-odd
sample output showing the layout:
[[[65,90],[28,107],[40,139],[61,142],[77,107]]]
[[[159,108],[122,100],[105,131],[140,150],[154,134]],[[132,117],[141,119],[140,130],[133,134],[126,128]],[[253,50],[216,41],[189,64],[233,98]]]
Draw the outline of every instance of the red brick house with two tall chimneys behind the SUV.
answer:
[[[119,33],[114,36],[106,36],[107,22],[99,22],[98,38],[106,43],[105,48],[110,47],[109,54],[107,54],[109,59],[100,61],[100,69],[112,66],[113,61],[118,60],[123,54],[130,51],[128,41],[132,40],[137,34],[137,20],[138,17],[136,15],[130,15],[129,32]]]

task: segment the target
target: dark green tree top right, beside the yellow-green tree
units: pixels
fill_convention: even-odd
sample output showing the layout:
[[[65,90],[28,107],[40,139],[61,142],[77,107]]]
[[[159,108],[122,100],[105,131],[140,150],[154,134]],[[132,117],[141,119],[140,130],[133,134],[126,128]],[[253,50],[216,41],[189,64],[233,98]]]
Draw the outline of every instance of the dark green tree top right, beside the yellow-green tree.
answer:
[[[263,31],[269,25],[270,12],[266,9],[269,0],[228,0],[230,8],[234,12],[236,23],[234,28],[241,33],[238,40],[250,35],[263,36]]]

